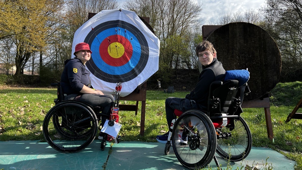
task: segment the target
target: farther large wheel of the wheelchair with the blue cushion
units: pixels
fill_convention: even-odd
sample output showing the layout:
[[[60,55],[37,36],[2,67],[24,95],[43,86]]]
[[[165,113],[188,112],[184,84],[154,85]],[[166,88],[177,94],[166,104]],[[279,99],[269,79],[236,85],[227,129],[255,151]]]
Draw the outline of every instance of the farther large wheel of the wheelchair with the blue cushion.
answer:
[[[217,139],[216,152],[224,159],[241,161],[249,155],[252,149],[252,134],[246,121],[240,116],[234,120],[234,129],[230,125],[218,129],[220,139]]]

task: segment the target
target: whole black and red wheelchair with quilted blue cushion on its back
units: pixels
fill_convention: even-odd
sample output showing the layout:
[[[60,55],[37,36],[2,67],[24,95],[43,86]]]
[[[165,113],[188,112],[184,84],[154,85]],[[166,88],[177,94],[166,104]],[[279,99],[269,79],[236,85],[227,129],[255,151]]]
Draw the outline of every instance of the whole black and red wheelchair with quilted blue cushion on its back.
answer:
[[[179,117],[172,121],[165,155],[172,145],[178,161],[190,169],[203,168],[213,158],[219,168],[215,151],[234,162],[246,158],[252,148],[252,135],[240,116],[243,112],[240,105],[243,96],[250,92],[248,80],[247,70],[226,71],[223,82],[215,81],[210,86],[208,112],[175,110]]]

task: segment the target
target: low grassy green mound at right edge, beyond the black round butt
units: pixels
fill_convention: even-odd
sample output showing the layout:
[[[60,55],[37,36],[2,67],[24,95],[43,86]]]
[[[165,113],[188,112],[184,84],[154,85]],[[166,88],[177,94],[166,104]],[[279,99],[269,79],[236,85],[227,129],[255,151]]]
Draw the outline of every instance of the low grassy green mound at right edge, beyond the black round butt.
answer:
[[[271,105],[294,106],[302,97],[302,82],[278,83],[270,93]]]

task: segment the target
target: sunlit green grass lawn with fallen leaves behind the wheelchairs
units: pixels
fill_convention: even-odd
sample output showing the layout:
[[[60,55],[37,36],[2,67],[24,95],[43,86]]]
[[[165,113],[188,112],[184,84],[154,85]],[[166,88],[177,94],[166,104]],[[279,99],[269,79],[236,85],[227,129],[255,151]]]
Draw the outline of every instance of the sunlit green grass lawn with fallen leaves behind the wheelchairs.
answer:
[[[300,88],[302,83],[298,83],[299,88],[297,88],[297,83],[294,84],[294,91],[302,91]],[[285,85],[282,84],[277,87],[291,89],[294,86],[293,84]],[[289,94],[283,92],[282,97],[282,93],[277,94],[277,92],[280,92],[280,89],[277,89],[274,92],[275,95],[271,97],[270,108],[274,142],[270,141],[267,136],[263,108],[243,109],[244,113],[241,116],[251,129],[253,146],[269,147],[277,150],[297,162],[297,165],[295,165],[296,170],[302,169],[302,120],[292,119],[289,123],[285,123],[288,114],[294,109],[301,95],[293,99],[292,96],[296,96],[297,93],[285,90]],[[139,106],[137,116],[130,111],[119,112],[120,123],[123,125],[120,130],[122,141],[156,142],[156,135],[163,134],[168,130],[165,119],[165,99],[170,96],[184,98],[187,93],[163,93],[163,91],[148,90],[145,135],[140,136]],[[48,110],[54,106],[53,100],[56,98],[56,88],[8,87],[0,85],[0,96],[0,141],[40,140],[45,142],[42,134],[42,123]],[[278,97],[283,101],[284,96],[291,97],[293,99],[291,103],[276,105],[276,102],[280,103],[281,101],[278,100]],[[135,104],[133,101],[120,101],[120,103]]]

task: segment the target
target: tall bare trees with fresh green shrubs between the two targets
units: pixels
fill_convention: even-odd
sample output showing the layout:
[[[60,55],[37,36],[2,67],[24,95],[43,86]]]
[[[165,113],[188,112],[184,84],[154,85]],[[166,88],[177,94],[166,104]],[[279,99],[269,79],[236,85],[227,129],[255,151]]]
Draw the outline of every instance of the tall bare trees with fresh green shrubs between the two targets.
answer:
[[[138,15],[150,17],[150,25],[161,41],[159,72],[167,67],[175,71],[192,68],[193,61],[189,58],[195,52],[192,54],[190,42],[201,21],[198,17],[201,4],[192,0],[127,0],[124,5]]]

